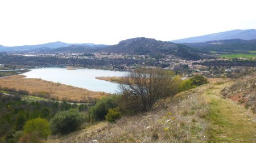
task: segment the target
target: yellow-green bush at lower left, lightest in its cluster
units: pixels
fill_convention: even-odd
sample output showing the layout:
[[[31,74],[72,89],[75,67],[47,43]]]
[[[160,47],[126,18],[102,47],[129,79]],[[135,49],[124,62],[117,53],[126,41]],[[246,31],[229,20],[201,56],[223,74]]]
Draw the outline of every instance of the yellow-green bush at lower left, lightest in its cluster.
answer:
[[[36,133],[36,135],[38,135],[40,138],[47,138],[49,135],[51,135],[49,123],[46,119],[43,118],[28,120],[23,128],[24,133]]]

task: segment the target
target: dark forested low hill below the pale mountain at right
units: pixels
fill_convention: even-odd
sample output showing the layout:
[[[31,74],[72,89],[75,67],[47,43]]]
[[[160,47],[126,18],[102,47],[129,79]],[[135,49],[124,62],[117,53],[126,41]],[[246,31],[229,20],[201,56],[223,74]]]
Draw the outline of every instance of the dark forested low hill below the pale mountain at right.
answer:
[[[256,39],[254,40],[219,40],[199,43],[183,43],[190,47],[201,50],[224,51],[224,50],[256,50]]]

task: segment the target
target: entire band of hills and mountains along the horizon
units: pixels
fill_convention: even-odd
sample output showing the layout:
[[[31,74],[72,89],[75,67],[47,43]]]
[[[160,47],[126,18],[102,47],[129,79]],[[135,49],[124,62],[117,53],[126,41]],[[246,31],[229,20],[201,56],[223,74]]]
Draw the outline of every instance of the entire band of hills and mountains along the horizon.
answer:
[[[231,39],[230,39],[231,38]],[[224,40],[222,40],[224,39]],[[251,40],[253,39],[253,40]],[[209,41],[210,40],[210,41]],[[206,42],[203,42],[206,41]],[[176,43],[174,43],[176,42]],[[181,43],[180,43],[181,42]],[[182,59],[197,60],[209,57],[209,51],[256,50],[256,30],[234,30],[175,41],[159,41],[154,38],[137,37],[120,41],[116,45],[95,45],[92,43],[67,44],[50,42],[39,45],[7,47],[0,45],[0,52],[36,53],[90,53],[106,52],[131,55],[175,55]]]

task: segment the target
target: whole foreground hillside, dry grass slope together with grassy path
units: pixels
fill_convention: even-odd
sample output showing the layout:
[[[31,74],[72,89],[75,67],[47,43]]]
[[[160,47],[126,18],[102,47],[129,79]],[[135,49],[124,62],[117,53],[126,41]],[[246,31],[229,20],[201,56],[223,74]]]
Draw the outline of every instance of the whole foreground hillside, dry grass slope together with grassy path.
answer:
[[[47,142],[255,142],[255,115],[220,97],[232,83],[210,81],[178,94],[167,109],[100,122]]]

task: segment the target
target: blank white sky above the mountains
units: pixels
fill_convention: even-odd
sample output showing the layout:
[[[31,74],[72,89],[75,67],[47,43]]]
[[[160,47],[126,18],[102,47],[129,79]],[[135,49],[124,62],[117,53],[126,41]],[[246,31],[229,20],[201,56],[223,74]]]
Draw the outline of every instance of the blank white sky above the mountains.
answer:
[[[1,0],[0,45],[117,44],[256,29],[255,0]]]

